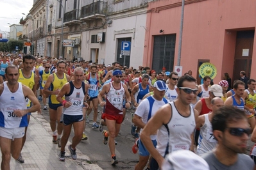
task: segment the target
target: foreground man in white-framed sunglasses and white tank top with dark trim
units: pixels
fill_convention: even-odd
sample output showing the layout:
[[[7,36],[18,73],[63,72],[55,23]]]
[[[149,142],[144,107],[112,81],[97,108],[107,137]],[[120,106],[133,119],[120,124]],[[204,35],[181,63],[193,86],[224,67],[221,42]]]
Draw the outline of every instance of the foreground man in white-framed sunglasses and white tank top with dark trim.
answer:
[[[190,104],[198,91],[196,79],[189,75],[180,77],[176,91],[177,100],[160,107],[141,132],[141,141],[153,157],[150,169],[161,167],[168,153],[176,150],[194,150],[192,137],[198,111],[192,109]],[[150,139],[150,135],[155,132],[157,148]]]

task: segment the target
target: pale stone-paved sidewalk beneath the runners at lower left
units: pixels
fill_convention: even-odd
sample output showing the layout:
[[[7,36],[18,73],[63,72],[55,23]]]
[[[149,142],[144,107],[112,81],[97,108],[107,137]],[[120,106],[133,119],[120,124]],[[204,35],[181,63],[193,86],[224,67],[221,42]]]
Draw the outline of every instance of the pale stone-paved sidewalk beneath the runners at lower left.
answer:
[[[96,164],[89,164],[89,157],[81,154],[79,150],[76,150],[77,160],[73,160],[67,148],[69,141],[65,148],[65,162],[60,162],[58,160],[60,148],[51,142],[52,135],[49,132],[51,132],[49,123],[42,115],[33,112],[30,116],[26,143],[21,151],[25,163],[19,164],[11,158],[11,169],[101,169]]]

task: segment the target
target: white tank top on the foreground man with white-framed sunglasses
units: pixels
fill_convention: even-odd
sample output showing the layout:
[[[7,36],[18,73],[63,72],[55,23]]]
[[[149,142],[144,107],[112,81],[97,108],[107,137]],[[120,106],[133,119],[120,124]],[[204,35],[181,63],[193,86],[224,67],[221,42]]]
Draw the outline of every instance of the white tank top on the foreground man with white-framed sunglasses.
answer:
[[[191,106],[191,114],[184,117],[177,111],[174,102],[169,104],[172,112],[171,120],[167,125],[162,125],[157,132],[157,150],[162,157],[176,150],[189,150],[191,134],[196,128],[194,109]]]

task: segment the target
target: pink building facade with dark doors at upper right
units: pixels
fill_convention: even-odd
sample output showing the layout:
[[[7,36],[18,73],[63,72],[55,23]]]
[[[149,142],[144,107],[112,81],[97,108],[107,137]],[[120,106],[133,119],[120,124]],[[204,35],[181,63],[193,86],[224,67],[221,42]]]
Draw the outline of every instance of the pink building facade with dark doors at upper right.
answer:
[[[148,6],[143,66],[173,71],[178,61],[182,0],[152,1]],[[214,83],[228,73],[232,81],[239,72],[256,79],[255,0],[187,0],[183,17],[183,73],[197,77],[201,63],[217,68]]]

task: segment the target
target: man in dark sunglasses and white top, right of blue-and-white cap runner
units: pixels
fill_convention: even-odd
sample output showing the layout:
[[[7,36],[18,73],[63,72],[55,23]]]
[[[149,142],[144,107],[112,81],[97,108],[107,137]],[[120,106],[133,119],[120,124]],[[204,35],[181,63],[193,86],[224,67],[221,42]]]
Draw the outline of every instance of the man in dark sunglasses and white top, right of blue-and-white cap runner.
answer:
[[[171,72],[168,78],[169,84],[167,86],[166,98],[170,101],[174,101],[178,98],[178,93],[176,91],[178,82],[178,73]]]

